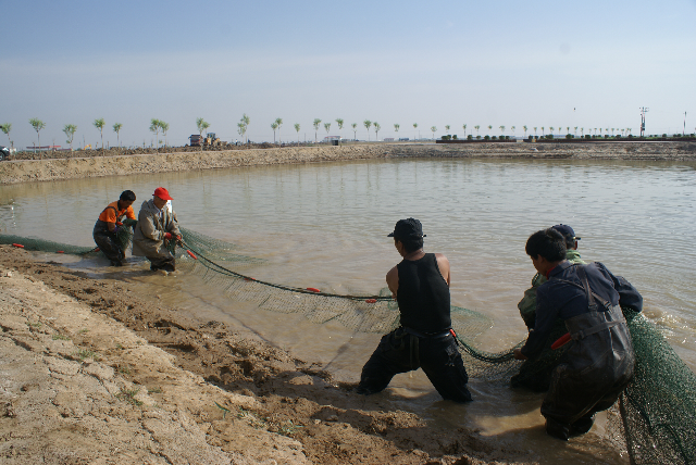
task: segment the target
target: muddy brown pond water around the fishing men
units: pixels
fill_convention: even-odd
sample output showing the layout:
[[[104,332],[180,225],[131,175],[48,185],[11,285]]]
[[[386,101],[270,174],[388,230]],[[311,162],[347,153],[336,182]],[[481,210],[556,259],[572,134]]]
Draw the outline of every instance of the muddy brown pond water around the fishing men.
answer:
[[[166,173],[0,187],[7,234],[91,246],[91,228],[124,189],[141,201],[158,186],[174,200],[179,224],[238,246],[266,262],[244,273],[266,281],[346,294],[374,294],[400,256],[386,235],[399,218],[423,223],[425,250],[451,264],[452,304],[478,311],[495,326],[477,339],[500,351],[525,336],[517,303],[534,268],[524,253],[535,230],[569,224],[582,237],[585,261],[600,261],[643,294],[655,322],[686,364],[696,368],[696,164],[632,161],[374,160]],[[55,260],[53,256],[52,260]],[[141,276],[133,261],[104,268],[105,259],[67,266],[117,272],[203,319],[245,327],[357,381],[380,335],[338,324],[259,311],[231,301],[197,276]],[[544,461],[625,461],[588,435],[572,445],[543,432],[542,395],[471,381],[469,405],[440,402],[421,372],[397,376],[398,406],[455,426],[481,429],[514,447],[547,450]],[[601,432],[602,423],[593,431]],[[595,439],[593,439],[595,438]]]

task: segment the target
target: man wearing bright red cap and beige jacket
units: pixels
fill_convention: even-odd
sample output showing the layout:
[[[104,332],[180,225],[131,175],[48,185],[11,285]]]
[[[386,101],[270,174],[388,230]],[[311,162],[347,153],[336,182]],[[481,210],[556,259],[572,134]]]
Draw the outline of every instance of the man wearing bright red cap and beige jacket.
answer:
[[[166,189],[154,189],[152,200],[142,202],[138,213],[138,224],[133,236],[133,254],[150,261],[150,269],[173,272],[174,255],[167,249],[171,240],[179,240],[176,215],[164,206],[167,200],[174,200]]]

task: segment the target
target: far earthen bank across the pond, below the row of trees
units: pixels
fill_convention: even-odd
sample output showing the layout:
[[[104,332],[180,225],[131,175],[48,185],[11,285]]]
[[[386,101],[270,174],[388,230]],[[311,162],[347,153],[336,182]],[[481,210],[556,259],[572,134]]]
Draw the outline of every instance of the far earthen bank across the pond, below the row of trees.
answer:
[[[0,184],[394,156],[696,161],[696,142],[374,143],[15,160],[0,163]]]

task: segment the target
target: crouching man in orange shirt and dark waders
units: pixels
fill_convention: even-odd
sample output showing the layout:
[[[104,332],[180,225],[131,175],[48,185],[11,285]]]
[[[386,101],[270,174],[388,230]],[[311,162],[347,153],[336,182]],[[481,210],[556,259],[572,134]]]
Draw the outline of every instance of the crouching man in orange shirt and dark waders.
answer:
[[[135,222],[133,211],[135,193],[132,190],[124,190],[115,202],[111,202],[100,214],[91,235],[99,250],[111,261],[111,266],[123,266],[126,253],[124,244],[119,240],[119,231],[123,225],[117,223],[128,218]]]

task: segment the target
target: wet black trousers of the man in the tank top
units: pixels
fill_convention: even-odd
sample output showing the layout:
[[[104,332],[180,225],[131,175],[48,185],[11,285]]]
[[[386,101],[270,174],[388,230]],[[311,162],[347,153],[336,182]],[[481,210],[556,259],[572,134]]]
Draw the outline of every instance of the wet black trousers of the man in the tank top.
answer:
[[[453,336],[417,337],[403,328],[382,337],[380,345],[362,368],[357,392],[372,394],[384,390],[395,375],[423,368],[445,400],[471,401],[469,376]]]

